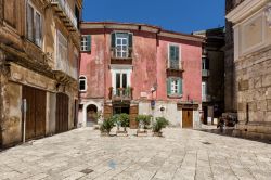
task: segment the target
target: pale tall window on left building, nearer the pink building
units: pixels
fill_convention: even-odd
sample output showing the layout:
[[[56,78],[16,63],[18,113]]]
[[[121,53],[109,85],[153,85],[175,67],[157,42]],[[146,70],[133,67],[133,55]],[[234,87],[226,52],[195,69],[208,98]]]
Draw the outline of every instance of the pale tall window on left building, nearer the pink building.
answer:
[[[67,39],[57,30],[56,65],[57,69],[68,73]]]

